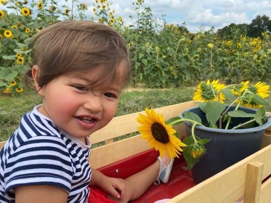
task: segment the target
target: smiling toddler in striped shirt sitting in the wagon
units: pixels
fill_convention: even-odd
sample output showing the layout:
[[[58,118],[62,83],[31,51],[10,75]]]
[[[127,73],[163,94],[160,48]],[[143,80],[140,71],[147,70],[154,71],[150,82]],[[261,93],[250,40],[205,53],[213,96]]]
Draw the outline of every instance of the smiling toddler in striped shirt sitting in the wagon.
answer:
[[[125,180],[88,163],[88,136],[114,117],[131,72],[117,32],[91,21],[62,21],[38,32],[31,48],[24,79],[43,103],[22,117],[0,152],[0,202],[128,202],[168,181],[173,160],[167,155]]]

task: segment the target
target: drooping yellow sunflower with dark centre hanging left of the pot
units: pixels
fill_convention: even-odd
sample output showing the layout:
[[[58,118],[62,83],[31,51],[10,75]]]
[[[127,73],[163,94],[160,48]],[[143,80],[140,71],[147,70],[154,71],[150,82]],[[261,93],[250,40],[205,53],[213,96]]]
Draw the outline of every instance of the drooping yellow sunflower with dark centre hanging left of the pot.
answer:
[[[138,127],[142,138],[149,142],[150,147],[159,150],[161,157],[164,152],[170,158],[178,157],[179,151],[183,151],[180,147],[186,146],[174,136],[176,130],[165,123],[163,115],[157,114],[153,108],[145,109],[146,115],[139,114],[137,121],[142,124]]]

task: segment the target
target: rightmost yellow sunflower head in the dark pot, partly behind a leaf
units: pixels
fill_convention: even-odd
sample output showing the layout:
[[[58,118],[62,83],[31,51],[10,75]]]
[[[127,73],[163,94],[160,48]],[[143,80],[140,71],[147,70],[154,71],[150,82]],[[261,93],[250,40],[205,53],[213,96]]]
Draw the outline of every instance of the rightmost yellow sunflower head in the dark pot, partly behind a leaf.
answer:
[[[248,90],[254,94],[258,94],[262,98],[268,97],[269,96],[268,92],[270,92],[269,85],[265,85],[264,82],[258,82],[254,86],[249,87]],[[251,100],[251,99],[248,99],[248,100]],[[254,109],[262,107],[262,105],[255,104],[253,101],[248,102],[245,100],[242,101],[242,106],[254,108]]]

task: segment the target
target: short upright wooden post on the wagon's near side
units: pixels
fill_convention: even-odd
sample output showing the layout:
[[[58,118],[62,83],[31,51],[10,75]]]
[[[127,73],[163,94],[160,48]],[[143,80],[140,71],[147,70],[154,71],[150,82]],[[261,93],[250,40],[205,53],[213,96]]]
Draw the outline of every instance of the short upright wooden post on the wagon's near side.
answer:
[[[260,199],[263,164],[257,161],[248,163],[244,203],[258,203]]]

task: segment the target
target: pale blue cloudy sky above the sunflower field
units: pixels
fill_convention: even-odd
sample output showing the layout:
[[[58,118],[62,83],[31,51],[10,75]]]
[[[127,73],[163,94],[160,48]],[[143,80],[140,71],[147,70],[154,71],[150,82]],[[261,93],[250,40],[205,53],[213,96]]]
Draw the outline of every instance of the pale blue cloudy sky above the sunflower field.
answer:
[[[58,5],[66,4],[65,0],[57,2]],[[69,2],[71,0],[68,0]],[[86,3],[88,5],[86,14],[93,16],[95,0],[79,2]],[[135,0],[111,0],[111,2],[115,17],[122,16],[125,25],[132,24],[133,21],[129,16],[136,18],[135,6],[132,4]],[[249,24],[257,15],[265,14],[271,18],[271,0],[145,0],[143,6],[150,7],[155,18],[165,15],[168,24],[180,25],[185,22],[191,32],[199,31],[202,25],[204,30],[212,26],[217,30],[231,23]],[[0,9],[3,8],[4,6],[0,5]]]

